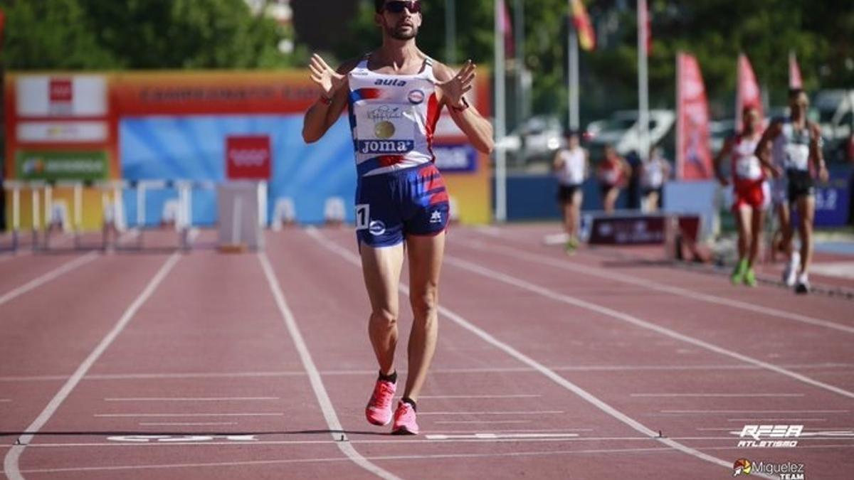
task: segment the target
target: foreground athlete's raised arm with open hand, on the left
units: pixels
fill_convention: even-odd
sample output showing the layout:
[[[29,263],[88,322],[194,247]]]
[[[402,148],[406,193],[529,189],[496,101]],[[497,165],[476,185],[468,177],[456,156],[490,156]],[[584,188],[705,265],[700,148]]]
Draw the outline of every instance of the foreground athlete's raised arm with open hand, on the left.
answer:
[[[312,56],[309,68],[320,97],[308,108],[302,123],[302,139],[306,143],[317,142],[341,116],[347,105],[347,74],[358,63],[358,60],[346,61],[335,71],[319,55]]]

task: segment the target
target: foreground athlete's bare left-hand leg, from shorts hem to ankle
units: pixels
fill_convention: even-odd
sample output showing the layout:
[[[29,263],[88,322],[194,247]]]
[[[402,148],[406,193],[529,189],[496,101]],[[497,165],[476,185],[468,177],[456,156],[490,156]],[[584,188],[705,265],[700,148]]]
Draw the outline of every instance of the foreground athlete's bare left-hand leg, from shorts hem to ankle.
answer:
[[[397,288],[401,281],[403,243],[380,249],[373,249],[362,243],[360,254],[362,274],[371,301],[368,335],[371,337],[374,354],[377,355],[380,372],[389,375],[395,371],[397,320],[400,318]]]

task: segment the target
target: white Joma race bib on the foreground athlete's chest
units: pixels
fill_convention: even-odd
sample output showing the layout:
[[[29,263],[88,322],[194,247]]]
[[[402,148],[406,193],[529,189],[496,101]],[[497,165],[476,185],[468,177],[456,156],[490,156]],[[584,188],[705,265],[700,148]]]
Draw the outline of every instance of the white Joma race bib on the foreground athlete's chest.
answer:
[[[362,155],[404,155],[415,149],[418,120],[411,105],[360,105],[356,108],[356,148]]]

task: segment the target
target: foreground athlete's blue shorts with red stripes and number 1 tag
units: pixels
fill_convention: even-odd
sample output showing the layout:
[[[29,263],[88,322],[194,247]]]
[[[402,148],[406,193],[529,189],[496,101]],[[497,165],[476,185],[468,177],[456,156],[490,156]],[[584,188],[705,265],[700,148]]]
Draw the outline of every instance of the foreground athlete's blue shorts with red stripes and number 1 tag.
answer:
[[[369,247],[438,235],[449,213],[445,181],[432,163],[362,177],[356,186],[356,238]]]

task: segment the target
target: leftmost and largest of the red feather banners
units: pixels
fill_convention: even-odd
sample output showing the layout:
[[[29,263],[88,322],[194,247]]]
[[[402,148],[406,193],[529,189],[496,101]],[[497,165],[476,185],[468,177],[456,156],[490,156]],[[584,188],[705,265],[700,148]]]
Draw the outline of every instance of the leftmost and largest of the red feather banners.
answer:
[[[709,103],[693,56],[676,57],[676,178],[711,179]]]

